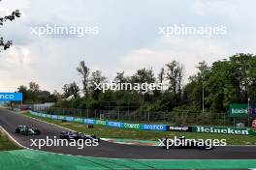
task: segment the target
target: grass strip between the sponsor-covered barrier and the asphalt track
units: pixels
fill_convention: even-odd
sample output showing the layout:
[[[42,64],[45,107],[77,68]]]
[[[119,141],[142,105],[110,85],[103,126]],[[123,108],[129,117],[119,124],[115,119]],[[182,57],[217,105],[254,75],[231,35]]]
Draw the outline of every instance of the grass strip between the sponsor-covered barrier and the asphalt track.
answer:
[[[139,140],[158,140],[165,135],[170,137],[185,136],[193,139],[226,139],[228,145],[256,145],[256,136],[250,135],[232,135],[232,134],[212,134],[212,133],[196,133],[196,132],[179,132],[179,131],[144,131],[138,129],[127,128],[109,128],[105,126],[96,126],[87,128],[87,125],[80,123],[62,123],[58,120],[49,118],[37,117],[28,112],[22,113],[26,116],[47,121],[49,123],[59,125],[65,128],[71,128],[76,131],[95,134],[103,138],[118,138],[118,139],[139,139]]]

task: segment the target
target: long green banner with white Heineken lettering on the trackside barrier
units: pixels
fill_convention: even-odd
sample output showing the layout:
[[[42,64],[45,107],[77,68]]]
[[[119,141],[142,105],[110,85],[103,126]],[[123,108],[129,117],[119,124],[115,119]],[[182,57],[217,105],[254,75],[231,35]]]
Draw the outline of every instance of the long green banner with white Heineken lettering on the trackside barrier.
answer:
[[[205,132],[205,133],[240,134],[240,135],[250,135],[253,133],[250,128],[193,127],[192,131]]]

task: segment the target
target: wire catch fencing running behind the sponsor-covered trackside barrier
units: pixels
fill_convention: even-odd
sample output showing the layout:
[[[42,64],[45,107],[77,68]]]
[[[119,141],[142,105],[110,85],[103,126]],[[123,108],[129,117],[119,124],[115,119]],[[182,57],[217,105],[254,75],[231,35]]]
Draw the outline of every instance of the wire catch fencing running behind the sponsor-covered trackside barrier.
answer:
[[[59,107],[33,107],[33,111],[46,114],[81,117],[86,119],[100,119],[124,121],[132,123],[161,123],[175,125],[201,126],[236,126],[237,123],[247,123],[246,118],[230,118],[227,113],[190,112],[190,111],[141,111],[141,110],[111,110],[111,109],[77,109]]]

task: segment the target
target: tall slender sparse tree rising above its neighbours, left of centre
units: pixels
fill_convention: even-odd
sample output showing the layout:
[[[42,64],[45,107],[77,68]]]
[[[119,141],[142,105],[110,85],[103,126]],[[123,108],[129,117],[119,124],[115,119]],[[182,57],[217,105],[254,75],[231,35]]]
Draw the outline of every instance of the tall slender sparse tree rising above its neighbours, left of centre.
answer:
[[[82,91],[84,94],[84,97],[88,97],[88,84],[89,84],[89,74],[90,70],[89,68],[85,65],[84,61],[80,62],[80,66],[77,68],[77,71],[79,71],[80,76],[81,76],[81,82],[82,82]]]

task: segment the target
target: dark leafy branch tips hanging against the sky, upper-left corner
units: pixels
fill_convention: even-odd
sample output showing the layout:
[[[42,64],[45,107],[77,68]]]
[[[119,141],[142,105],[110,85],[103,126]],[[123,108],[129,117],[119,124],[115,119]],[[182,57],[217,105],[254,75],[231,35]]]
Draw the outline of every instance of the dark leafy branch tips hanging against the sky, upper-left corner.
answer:
[[[1,2],[1,0],[0,0],[0,2]],[[19,13],[19,11],[16,10],[12,14],[10,14],[10,15],[6,15],[4,17],[0,17],[0,25],[2,26],[4,24],[4,22],[6,22],[7,20],[13,21],[13,20],[16,19],[16,17],[20,17],[20,15],[21,14]],[[12,41],[5,42],[4,38],[0,37],[0,52],[2,50],[8,49],[12,44],[13,44]]]

